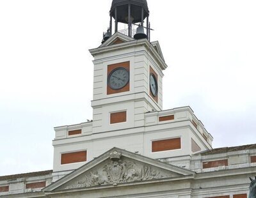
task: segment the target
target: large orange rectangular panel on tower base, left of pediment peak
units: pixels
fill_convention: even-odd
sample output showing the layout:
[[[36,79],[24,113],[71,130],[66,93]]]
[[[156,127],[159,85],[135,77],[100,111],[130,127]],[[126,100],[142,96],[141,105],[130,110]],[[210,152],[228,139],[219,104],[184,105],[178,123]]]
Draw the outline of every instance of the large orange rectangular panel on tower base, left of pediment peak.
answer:
[[[87,151],[61,154],[61,164],[72,164],[77,162],[86,162]]]

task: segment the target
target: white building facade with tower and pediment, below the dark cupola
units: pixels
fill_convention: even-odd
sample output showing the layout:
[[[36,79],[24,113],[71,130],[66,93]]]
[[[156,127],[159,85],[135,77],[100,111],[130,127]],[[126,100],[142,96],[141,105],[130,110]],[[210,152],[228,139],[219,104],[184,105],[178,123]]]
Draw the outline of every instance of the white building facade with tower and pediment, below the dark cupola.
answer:
[[[256,144],[212,149],[211,134],[190,107],[163,110],[167,65],[158,42],[115,33],[90,53],[92,121],[54,128],[53,171],[2,176],[0,197],[248,195]],[[109,93],[109,66],[122,63],[129,66],[129,88]],[[152,73],[157,96],[150,93]],[[120,112],[123,121],[113,122]]]

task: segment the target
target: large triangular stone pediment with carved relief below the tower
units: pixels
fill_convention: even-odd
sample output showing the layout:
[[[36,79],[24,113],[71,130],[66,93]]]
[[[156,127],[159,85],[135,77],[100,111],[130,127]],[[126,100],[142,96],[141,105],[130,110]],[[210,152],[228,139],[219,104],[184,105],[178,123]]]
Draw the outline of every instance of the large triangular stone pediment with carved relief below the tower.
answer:
[[[107,187],[193,176],[195,172],[113,148],[44,188],[44,192]]]

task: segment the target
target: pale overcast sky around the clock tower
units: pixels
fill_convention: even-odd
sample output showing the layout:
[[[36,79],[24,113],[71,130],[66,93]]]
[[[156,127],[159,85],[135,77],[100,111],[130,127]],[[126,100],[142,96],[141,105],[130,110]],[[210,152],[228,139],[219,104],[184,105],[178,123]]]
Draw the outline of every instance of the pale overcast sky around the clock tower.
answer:
[[[54,126],[92,119],[111,0],[0,0],[0,175],[52,169]],[[256,1],[148,0],[164,109],[190,105],[214,148],[256,143]]]

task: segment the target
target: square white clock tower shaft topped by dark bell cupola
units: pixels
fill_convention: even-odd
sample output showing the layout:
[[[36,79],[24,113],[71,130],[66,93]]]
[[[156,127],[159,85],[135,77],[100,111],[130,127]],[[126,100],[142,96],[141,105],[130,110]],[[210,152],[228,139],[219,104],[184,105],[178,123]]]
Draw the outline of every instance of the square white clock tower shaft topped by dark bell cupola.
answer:
[[[93,133],[143,126],[145,112],[162,110],[167,65],[159,43],[149,41],[148,17],[146,0],[113,0],[108,32],[102,45],[90,50],[94,57]],[[119,23],[127,29],[118,29]]]

